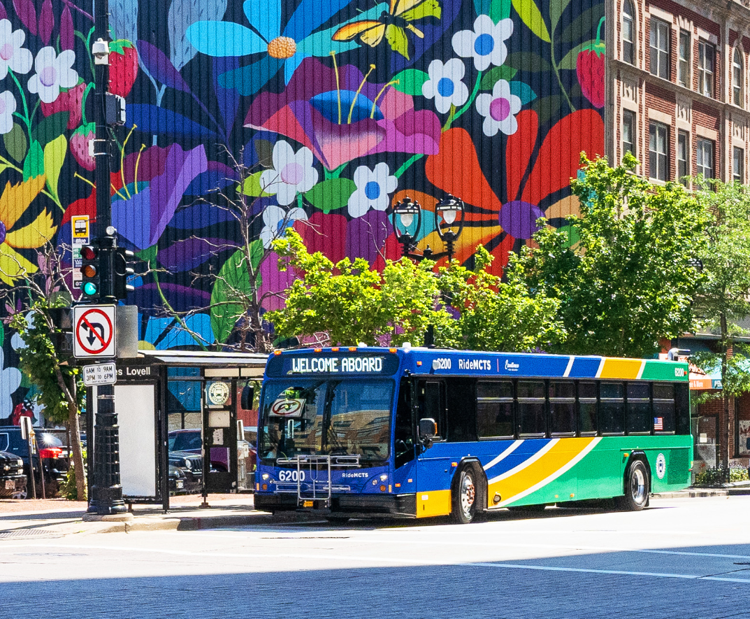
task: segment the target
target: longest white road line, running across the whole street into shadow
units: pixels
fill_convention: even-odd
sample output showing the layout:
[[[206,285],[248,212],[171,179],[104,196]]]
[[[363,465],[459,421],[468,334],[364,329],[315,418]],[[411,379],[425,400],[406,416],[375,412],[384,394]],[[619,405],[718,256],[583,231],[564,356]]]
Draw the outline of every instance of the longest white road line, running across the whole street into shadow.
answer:
[[[13,544],[3,545],[3,548],[71,548],[69,545],[62,544]],[[107,550],[116,552],[145,552],[152,554],[173,554],[181,557],[222,557],[222,558],[250,558],[250,559],[266,559],[266,558],[285,558],[285,559],[305,559],[311,561],[329,560],[340,563],[342,560],[350,560],[354,562],[371,562],[371,563],[399,563],[402,565],[413,565],[413,566],[456,566],[456,567],[493,567],[499,569],[531,569],[533,571],[541,572],[577,572],[583,574],[611,574],[611,575],[625,575],[625,576],[650,576],[652,578],[681,578],[683,580],[711,580],[720,582],[736,582],[741,584],[750,584],[750,578],[730,578],[727,576],[714,576],[714,575],[695,575],[695,574],[677,574],[671,572],[635,572],[622,569],[591,569],[583,567],[564,567],[564,566],[546,566],[546,565],[530,565],[528,563],[488,563],[482,561],[455,561],[452,563],[441,563],[435,561],[418,560],[418,559],[399,559],[398,557],[362,557],[362,556],[351,556],[347,554],[291,554],[291,553],[228,553],[228,552],[205,552],[205,551],[180,551],[180,550],[166,550],[163,548],[127,548],[124,546],[89,546],[89,545],[77,545],[76,548],[83,548],[88,550]],[[727,555],[730,556],[730,555]],[[297,565],[296,567],[299,567]],[[320,569],[320,568],[316,568]],[[299,570],[293,570],[299,571]]]

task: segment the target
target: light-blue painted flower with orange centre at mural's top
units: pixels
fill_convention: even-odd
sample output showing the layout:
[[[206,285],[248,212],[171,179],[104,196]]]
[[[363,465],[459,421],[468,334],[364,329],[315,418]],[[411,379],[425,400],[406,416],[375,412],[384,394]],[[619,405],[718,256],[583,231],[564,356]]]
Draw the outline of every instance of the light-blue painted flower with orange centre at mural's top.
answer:
[[[336,24],[314,32],[353,0],[302,0],[287,26],[281,30],[281,0],[246,0],[242,5],[253,29],[233,22],[199,21],[187,29],[190,43],[206,56],[263,57],[250,65],[227,71],[219,76],[219,84],[241,95],[254,95],[284,67],[286,83],[295,69],[308,56],[329,56],[357,47],[356,41],[332,41]],[[380,4],[350,21],[377,19],[387,5]],[[349,23],[349,22],[347,22]]]

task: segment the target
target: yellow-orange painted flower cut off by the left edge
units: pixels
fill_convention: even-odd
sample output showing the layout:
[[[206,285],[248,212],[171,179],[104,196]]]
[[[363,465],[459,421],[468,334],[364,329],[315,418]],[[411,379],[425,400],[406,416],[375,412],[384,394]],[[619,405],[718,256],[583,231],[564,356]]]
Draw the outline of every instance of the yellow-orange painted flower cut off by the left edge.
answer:
[[[52,239],[55,224],[46,210],[40,212],[31,224],[13,230],[28,206],[44,188],[45,177],[10,185],[0,195],[0,281],[13,285],[13,281],[27,273],[37,271],[37,266],[26,260],[17,249],[36,249]]]

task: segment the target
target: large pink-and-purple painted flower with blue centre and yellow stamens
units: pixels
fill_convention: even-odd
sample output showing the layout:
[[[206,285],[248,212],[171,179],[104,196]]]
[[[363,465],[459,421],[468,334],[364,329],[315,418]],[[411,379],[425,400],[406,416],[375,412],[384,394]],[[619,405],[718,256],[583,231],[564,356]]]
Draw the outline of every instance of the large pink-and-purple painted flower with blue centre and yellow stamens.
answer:
[[[440,121],[390,84],[373,84],[351,65],[336,71],[307,58],[281,94],[262,92],[245,127],[296,140],[329,170],[379,152],[435,155]]]

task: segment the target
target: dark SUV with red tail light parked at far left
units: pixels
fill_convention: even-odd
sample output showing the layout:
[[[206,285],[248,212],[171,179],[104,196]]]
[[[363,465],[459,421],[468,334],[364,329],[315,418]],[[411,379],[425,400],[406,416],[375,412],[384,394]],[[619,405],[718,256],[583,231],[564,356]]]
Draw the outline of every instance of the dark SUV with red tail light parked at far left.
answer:
[[[41,460],[44,471],[44,494],[46,497],[54,497],[68,474],[68,458],[63,455],[62,440],[46,431],[45,428],[34,428],[34,432],[38,453],[34,454],[33,467],[31,467],[31,458],[28,454],[28,442],[21,437],[21,428],[17,425],[0,426],[0,451],[10,452],[23,460],[23,473],[27,479],[33,468],[37,497],[42,496],[42,478],[39,470]]]

